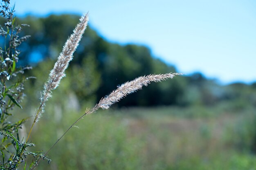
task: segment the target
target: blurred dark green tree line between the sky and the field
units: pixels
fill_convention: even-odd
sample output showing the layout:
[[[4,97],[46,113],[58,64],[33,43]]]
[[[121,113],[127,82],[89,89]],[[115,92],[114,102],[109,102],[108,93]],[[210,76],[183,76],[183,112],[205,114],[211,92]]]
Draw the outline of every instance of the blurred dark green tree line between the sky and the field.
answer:
[[[27,94],[38,97],[49,70],[79,16],[27,16],[17,20],[18,23],[30,25],[23,31],[24,35],[31,35],[31,38],[20,46],[20,64],[34,67],[27,72],[27,76],[36,77],[30,81]],[[3,43],[2,39],[0,43]],[[149,48],[110,43],[89,26],[67,69],[67,77],[63,79],[59,93],[64,98],[72,94],[80,104],[88,101],[95,103],[121,83],[141,75],[168,72],[176,72],[175,66],[154,58]],[[32,99],[31,102],[35,98]],[[163,83],[153,83],[121,100],[118,106],[214,106],[219,103],[232,105],[235,109],[256,106],[256,83],[221,86],[201,73],[193,73]]]

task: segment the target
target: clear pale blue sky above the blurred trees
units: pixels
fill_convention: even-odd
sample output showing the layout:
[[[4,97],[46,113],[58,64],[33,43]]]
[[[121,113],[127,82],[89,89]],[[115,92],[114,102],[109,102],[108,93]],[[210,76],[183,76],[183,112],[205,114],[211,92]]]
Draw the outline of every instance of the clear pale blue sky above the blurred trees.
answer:
[[[103,37],[146,45],[179,72],[256,81],[255,0],[16,0],[18,16],[88,11]]]

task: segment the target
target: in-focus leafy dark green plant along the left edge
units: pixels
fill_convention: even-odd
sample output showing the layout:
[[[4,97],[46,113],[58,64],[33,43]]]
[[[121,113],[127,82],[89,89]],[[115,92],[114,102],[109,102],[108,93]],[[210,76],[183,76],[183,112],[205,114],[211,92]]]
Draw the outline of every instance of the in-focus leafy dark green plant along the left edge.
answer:
[[[10,7],[8,0],[2,0],[0,14],[2,24],[0,25],[0,35],[2,44],[0,46],[0,169],[17,169],[24,161],[26,155],[33,154],[39,157],[41,152],[25,152],[27,147],[34,144],[25,143],[20,139],[19,130],[22,129],[27,118],[17,120],[12,118],[17,113],[13,113],[13,108],[22,109],[20,102],[24,97],[24,83],[29,79],[25,77],[24,71],[31,67],[17,67],[20,50],[18,48],[29,35],[21,35],[21,31],[27,24],[16,24],[16,17],[13,16],[14,7]],[[18,110],[20,111],[20,110]],[[25,168],[24,168],[25,169]]]

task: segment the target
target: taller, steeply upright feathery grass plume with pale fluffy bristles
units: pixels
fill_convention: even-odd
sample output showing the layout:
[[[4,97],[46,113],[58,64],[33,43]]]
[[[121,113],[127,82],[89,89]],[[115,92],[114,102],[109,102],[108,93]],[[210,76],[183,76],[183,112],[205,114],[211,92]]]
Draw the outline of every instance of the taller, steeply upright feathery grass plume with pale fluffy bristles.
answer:
[[[60,53],[58,60],[54,64],[54,68],[50,71],[49,78],[44,85],[44,90],[41,93],[40,97],[40,107],[38,108],[38,112],[35,115],[35,121],[37,122],[43,113],[45,102],[51,97],[51,93],[53,89],[58,87],[61,78],[65,76],[65,70],[73,59],[73,53],[79,45],[79,41],[82,38],[82,35],[86,29],[88,24],[88,13],[83,15],[80,18],[80,22],[76,25],[76,28],[73,31],[73,34],[67,39],[65,45],[63,46],[63,50]]]

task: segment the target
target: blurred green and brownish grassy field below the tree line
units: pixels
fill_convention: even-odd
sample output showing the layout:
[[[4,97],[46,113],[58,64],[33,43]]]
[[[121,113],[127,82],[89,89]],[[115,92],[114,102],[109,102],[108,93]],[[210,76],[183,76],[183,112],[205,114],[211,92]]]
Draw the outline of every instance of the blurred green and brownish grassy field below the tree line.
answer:
[[[48,110],[36,124],[31,140],[37,150],[47,150],[79,117],[60,108]],[[100,110],[72,128],[49,153],[52,162],[42,161],[37,169],[255,170],[255,109],[231,111],[221,106]]]

